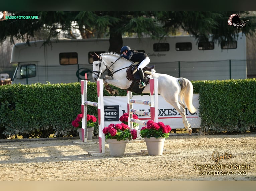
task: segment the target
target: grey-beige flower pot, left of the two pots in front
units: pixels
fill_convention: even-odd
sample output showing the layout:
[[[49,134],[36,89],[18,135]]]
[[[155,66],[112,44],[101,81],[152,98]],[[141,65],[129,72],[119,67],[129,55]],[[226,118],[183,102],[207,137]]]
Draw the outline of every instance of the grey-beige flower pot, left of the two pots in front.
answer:
[[[107,139],[110,156],[124,156],[127,140]]]

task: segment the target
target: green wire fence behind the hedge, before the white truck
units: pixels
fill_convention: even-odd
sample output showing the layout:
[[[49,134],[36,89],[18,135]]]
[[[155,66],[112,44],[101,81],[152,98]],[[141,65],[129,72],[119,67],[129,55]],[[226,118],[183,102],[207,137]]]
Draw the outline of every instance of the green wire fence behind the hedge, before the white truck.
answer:
[[[251,65],[248,67],[248,63]],[[250,71],[255,71],[255,62],[250,60],[223,60],[223,61],[202,61],[202,62],[168,62],[168,63],[149,63],[150,65],[156,65],[156,72],[162,74],[168,74],[173,77],[183,77],[192,81],[197,80],[227,80],[227,79],[245,79],[247,76],[247,68]],[[36,78],[33,81],[32,78],[24,79],[28,84],[41,82],[41,83],[71,83],[78,82],[84,77],[84,73],[88,73],[89,81],[92,80],[92,65],[79,65],[67,70],[68,66],[58,67],[39,67],[36,69]],[[77,70],[77,68],[83,68]],[[0,67],[0,73],[8,73],[9,78],[13,80],[13,74],[15,67]],[[79,73],[79,75],[78,75]],[[46,77],[47,76],[47,77]],[[78,78],[79,76],[79,78]],[[256,76],[256,74],[250,73],[249,78]],[[54,79],[54,80],[51,80]],[[14,81],[15,82],[15,81]]]

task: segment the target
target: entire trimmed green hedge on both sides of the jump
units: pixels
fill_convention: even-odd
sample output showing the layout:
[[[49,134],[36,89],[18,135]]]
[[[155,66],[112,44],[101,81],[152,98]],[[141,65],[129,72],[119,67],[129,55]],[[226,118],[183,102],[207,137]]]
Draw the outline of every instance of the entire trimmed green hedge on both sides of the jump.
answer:
[[[194,93],[199,93],[203,132],[245,132],[255,128],[255,79],[192,84]],[[118,90],[119,95],[127,95],[125,90]],[[109,94],[104,90],[104,95]],[[87,97],[97,102],[96,83],[88,82]],[[81,112],[80,83],[0,86],[0,109],[0,138],[48,137],[53,133],[74,136],[77,132],[71,122]],[[88,114],[97,117],[97,108],[88,106]]]

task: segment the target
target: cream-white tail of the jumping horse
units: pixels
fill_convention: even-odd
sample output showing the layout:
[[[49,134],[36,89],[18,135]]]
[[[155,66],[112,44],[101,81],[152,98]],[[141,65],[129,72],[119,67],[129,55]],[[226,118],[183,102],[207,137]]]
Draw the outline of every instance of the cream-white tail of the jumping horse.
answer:
[[[197,109],[192,103],[193,99],[193,85],[192,83],[185,78],[178,78],[180,83],[181,91],[179,93],[181,102],[184,99],[185,105],[187,106],[190,113],[195,113]]]

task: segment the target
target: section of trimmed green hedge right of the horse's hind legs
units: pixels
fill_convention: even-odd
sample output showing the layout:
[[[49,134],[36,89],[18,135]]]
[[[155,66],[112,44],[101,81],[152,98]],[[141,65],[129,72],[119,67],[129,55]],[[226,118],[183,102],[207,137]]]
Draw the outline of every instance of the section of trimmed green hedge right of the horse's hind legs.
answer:
[[[256,126],[256,79],[197,81],[201,130],[245,132]]]

